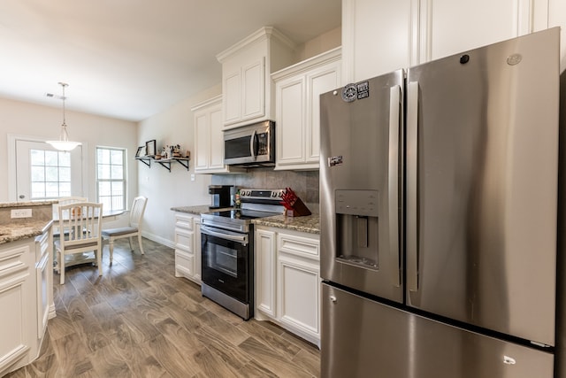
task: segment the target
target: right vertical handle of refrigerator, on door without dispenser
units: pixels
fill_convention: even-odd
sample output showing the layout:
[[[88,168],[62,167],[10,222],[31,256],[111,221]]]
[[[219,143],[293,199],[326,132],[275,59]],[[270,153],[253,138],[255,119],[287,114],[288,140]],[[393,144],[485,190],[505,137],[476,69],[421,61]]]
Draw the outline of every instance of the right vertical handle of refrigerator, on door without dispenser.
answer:
[[[407,84],[407,287],[418,290],[418,81]]]

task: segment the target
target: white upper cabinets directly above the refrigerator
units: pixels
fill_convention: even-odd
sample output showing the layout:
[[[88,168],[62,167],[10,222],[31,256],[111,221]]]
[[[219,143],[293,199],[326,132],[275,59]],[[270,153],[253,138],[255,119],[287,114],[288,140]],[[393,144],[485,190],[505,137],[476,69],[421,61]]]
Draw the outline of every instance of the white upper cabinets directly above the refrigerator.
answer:
[[[548,0],[343,0],[344,81],[548,27]]]

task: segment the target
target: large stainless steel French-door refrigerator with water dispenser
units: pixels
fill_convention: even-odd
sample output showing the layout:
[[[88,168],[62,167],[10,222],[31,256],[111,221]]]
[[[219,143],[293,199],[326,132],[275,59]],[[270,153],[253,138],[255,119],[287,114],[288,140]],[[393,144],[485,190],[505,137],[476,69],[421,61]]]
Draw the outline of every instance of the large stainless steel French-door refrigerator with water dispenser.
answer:
[[[552,377],[559,29],[321,96],[323,377]]]

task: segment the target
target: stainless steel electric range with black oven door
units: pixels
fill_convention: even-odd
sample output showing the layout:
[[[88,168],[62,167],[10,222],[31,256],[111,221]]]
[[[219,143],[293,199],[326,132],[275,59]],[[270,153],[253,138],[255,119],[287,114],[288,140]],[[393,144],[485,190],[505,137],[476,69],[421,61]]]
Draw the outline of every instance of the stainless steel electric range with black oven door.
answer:
[[[240,189],[241,208],[201,215],[204,297],[249,320],[254,314],[251,220],[282,214],[285,189]]]

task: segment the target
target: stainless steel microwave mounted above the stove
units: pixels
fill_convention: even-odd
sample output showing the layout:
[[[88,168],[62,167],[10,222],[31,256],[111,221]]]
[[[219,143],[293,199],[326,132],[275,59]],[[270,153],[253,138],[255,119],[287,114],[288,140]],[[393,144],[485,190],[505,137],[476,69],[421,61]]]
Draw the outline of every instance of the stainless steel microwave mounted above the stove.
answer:
[[[224,164],[275,166],[275,122],[264,120],[224,132]]]

